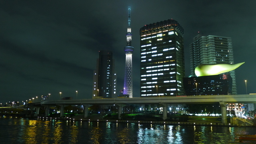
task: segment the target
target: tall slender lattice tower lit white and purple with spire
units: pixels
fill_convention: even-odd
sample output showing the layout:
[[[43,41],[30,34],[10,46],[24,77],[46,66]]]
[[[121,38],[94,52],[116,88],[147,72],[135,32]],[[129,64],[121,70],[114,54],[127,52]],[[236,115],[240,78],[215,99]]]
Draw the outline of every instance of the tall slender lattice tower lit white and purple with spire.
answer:
[[[130,15],[131,7],[128,7],[128,28],[126,33],[126,47],[124,47],[125,58],[125,73],[124,73],[124,94],[129,95],[132,98],[132,53],[134,47],[132,47],[132,29],[130,28]]]

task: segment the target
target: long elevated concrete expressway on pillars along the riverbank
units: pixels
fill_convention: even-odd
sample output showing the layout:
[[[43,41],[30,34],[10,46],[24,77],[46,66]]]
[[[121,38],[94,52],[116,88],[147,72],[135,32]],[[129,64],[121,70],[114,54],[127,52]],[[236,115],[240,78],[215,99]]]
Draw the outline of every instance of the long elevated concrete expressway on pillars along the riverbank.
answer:
[[[63,116],[64,107],[68,105],[84,105],[85,114],[88,116],[88,106],[93,104],[116,104],[119,116],[122,114],[122,107],[126,104],[161,104],[163,107],[163,119],[167,118],[167,104],[214,104],[219,103],[222,113],[222,123],[227,122],[226,104],[227,103],[256,103],[256,95],[208,95],[208,96],[169,96],[169,97],[145,97],[145,98],[100,98],[100,99],[79,99],[79,100],[55,100],[42,101],[40,104],[46,107],[48,116],[50,105],[61,106]],[[35,103],[36,104],[36,103]],[[39,102],[38,102],[39,104]],[[38,111],[39,112],[39,111]],[[119,117],[120,118],[120,117]]]

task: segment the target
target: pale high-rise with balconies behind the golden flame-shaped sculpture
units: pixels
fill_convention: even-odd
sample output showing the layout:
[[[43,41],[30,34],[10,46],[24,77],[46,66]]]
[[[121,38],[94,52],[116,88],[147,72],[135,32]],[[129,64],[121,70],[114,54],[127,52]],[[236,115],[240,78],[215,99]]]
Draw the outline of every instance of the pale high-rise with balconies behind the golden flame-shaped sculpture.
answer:
[[[190,73],[195,76],[199,64],[234,64],[232,40],[223,36],[198,34],[190,44]],[[232,94],[236,91],[235,71],[227,72],[232,77]]]

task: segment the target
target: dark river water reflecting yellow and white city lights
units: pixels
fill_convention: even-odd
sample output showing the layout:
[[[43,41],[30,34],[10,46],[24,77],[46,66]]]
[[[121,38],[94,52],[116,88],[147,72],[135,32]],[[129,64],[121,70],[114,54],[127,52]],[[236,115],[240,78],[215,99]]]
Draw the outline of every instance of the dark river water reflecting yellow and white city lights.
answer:
[[[256,134],[256,128],[0,116],[0,144],[228,144],[235,134]]]

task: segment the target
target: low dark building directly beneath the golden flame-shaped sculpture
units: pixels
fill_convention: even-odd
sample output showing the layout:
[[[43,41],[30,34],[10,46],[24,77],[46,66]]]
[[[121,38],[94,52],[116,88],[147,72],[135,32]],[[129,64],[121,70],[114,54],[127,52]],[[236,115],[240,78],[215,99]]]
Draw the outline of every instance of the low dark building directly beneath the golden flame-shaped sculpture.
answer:
[[[229,74],[183,78],[187,96],[226,95],[232,92],[232,78]]]

